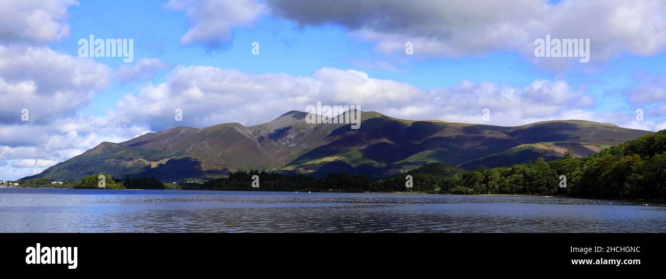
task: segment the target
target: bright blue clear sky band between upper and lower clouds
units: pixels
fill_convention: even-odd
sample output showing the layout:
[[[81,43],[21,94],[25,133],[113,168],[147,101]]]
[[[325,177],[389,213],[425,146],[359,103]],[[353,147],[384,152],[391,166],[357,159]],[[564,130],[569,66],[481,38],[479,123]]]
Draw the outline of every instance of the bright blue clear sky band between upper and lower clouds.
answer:
[[[410,83],[424,90],[451,87],[463,79],[515,86],[528,85],[535,79],[564,79],[573,87],[587,86],[586,93],[599,101],[595,111],[633,111],[624,104],[603,102],[603,93],[630,87],[631,77],[637,71],[652,75],[666,73],[666,67],[661,66],[666,65],[664,53],[651,57],[619,53],[617,58],[605,62],[602,69],[572,65],[567,71],[537,67],[509,51],[469,57],[406,58],[374,51],[372,43],[350,38],[344,27],[330,24],[299,27],[294,21],[270,15],[260,15],[251,24],[234,29],[233,37],[220,48],[184,46],[178,39],[189,27],[187,17],[166,9],[164,4],[165,1],[83,1],[69,8],[71,36],[52,43],[51,47],[77,55],[77,41],[90,34],[104,39],[133,38],[137,59],[157,57],[171,66],[208,65],[247,73],[296,76],[311,75],[322,67],[360,68],[376,79]],[[255,41],[260,43],[260,56],[250,53]],[[117,58],[95,58],[95,61],[113,68],[123,65]],[[358,67],[359,61],[387,61],[400,71],[362,68]],[[163,75],[157,75],[154,81],[163,79]],[[131,86],[112,83],[96,96],[93,106],[113,109],[116,101],[132,90]]]

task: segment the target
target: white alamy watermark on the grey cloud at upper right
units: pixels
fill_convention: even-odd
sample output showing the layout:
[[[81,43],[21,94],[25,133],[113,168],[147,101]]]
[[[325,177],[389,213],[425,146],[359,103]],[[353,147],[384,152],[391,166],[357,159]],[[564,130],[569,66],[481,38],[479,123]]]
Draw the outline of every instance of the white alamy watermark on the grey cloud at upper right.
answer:
[[[589,39],[543,39],[534,40],[535,57],[581,57],[580,63],[589,62]]]

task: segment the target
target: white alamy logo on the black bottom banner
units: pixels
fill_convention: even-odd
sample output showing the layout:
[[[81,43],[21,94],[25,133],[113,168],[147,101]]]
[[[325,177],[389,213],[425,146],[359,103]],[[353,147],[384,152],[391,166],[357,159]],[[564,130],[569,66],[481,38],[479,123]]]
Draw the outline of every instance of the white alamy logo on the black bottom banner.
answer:
[[[28,253],[25,256],[26,264],[69,264],[69,269],[78,266],[78,247],[41,247],[39,243],[35,246],[25,248]]]

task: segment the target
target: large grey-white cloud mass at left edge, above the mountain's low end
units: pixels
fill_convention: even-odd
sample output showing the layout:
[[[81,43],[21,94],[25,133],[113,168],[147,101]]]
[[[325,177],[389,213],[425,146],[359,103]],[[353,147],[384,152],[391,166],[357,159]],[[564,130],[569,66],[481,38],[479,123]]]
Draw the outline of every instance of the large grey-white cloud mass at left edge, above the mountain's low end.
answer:
[[[107,87],[109,67],[48,47],[0,45],[0,174],[18,179],[81,154],[101,140],[145,129],[77,111]],[[27,109],[29,121],[22,121]]]

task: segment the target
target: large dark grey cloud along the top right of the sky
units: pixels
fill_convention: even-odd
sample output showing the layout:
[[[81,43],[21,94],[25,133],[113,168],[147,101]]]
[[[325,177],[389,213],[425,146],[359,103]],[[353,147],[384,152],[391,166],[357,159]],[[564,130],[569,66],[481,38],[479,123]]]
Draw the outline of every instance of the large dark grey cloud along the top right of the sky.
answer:
[[[574,59],[534,57],[534,40],[590,39],[591,62],[621,53],[654,55],[666,45],[663,1],[563,0],[289,1],[268,0],[274,15],[300,25],[335,24],[376,44],[386,53],[426,57],[462,57],[514,51],[535,63],[571,63]],[[501,11],[498,12],[498,11]],[[575,60],[577,61],[577,60]]]

